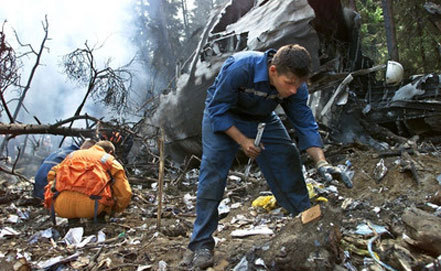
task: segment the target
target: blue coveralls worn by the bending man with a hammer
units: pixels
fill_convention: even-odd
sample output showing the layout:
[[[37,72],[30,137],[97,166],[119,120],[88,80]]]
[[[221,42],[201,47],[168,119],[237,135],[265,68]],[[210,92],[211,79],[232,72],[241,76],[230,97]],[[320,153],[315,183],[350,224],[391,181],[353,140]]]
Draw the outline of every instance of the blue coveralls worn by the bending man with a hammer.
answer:
[[[268,63],[274,50],[240,52],[223,64],[208,89],[202,121],[203,155],[196,201],[196,220],[189,248],[214,248],[213,232],[218,225],[217,207],[222,200],[228,171],[239,149],[224,133],[232,125],[255,138],[257,125],[265,122],[256,158],[278,204],[293,215],[310,207],[299,151],[274,109],[280,104],[293,123],[301,150],[322,147],[318,126],[307,106],[308,90],[303,84],[296,94],[279,98],[270,85]]]

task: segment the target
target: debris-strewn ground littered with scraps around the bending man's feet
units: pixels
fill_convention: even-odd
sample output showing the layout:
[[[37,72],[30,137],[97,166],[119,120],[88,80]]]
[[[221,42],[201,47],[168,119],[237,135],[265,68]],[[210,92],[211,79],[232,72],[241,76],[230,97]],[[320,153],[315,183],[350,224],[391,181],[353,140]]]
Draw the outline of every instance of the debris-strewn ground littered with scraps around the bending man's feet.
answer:
[[[266,182],[257,168],[247,182],[244,166],[233,168],[209,270],[440,270],[441,152],[430,146],[387,153],[327,146],[333,164],[354,172],[354,187],[323,184],[306,160],[311,202],[321,212],[306,224],[271,204],[252,207],[268,196]],[[129,208],[107,223],[57,226],[30,197],[32,184],[3,175],[0,270],[179,270],[198,171],[179,175],[166,168],[159,228],[157,175],[131,176]]]

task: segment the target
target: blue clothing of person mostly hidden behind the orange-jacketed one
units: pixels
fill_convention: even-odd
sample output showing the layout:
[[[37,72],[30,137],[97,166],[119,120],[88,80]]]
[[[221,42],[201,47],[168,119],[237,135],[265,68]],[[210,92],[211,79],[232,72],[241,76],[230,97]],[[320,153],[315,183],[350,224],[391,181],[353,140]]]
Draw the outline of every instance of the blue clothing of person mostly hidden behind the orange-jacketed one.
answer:
[[[34,191],[32,193],[34,197],[44,200],[44,187],[47,185],[47,174],[54,166],[61,163],[69,153],[78,149],[79,147],[73,144],[68,147],[58,149],[44,159],[43,163],[41,163],[40,168],[35,174]]]

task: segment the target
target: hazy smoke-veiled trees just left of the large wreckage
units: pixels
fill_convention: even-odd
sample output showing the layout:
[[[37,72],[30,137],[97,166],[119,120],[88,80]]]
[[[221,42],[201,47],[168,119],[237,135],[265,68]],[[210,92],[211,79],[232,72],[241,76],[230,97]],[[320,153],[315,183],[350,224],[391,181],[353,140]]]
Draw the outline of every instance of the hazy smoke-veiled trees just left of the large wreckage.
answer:
[[[137,0],[133,40],[147,73],[147,96],[175,87],[176,67],[192,57],[211,12],[226,1],[194,0],[189,6],[189,0]]]

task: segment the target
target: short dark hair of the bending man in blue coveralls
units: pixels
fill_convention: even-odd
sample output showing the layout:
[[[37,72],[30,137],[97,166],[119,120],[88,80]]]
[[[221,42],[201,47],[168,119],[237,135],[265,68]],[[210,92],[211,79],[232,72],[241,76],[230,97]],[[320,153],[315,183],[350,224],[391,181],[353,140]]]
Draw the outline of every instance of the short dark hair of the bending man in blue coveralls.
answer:
[[[300,78],[308,78],[311,73],[311,55],[303,46],[289,44],[277,50],[271,65],[276,66],[280,74],[291,72]]]

